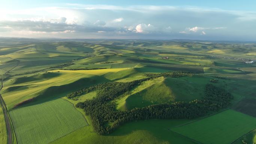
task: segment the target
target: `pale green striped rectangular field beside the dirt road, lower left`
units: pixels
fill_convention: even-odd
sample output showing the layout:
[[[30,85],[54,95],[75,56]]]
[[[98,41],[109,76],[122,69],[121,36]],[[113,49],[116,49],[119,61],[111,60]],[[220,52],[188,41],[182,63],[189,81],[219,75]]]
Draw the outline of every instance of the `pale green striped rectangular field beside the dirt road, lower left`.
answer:
[[[73,104],[56,99],[10,111],[19,144],[47,144],[88,125]]]

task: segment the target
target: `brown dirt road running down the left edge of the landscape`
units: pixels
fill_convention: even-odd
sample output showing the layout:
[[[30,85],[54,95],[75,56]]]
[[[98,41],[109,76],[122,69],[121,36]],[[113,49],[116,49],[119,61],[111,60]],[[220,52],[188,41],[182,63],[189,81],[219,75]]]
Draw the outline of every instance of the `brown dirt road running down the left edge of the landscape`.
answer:
[[[3,80],[1,80],[0,91],[2,88],[3,88]],[[6,130],[7,130],[7,144],[12,144],[12,141],[13,141],[12,125],[9,119],[9,114],[7,111],[6,104],[1,94],[0,94],[0,104],[1,104],[1,107],[3,108],[4,120],[5,120]]]

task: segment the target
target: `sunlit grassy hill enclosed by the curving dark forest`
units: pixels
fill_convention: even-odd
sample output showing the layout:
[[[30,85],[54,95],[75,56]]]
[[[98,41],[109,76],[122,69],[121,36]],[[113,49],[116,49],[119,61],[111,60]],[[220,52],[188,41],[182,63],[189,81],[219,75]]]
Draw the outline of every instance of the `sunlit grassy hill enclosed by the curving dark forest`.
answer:
[[[119,99],[118,109],[131,110],[152,104],[200,99],[210,79],[205,76],[188,76],[150,80],[135,88],[130,95]]]

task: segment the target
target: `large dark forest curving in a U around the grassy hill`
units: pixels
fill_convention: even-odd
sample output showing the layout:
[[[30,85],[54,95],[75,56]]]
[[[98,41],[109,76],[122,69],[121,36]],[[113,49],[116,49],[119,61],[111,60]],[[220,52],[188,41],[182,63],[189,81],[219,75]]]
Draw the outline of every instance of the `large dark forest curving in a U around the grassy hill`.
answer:
[[[147,78],[149,79],[149,78]],[[141,80],[143,81],[143,80]],[[134,120],[145,119],[193,119],[204,116],[210,111],[228,107],[232,95],[223,88],[207,84],[205,96],[190,102],[173,102],[172,104],[157,104],[143,108],[134,108],[128,111],[116,110],[116,103],[112,101],[118,96],[128,92],[132,86],[138,85],[140,80],[134,83],[109,83],[101,84],[97,97],[79,102],[76,107],[83,108],[85,114],[92,119],[92,126],[98,134],[109,134],[118,126]],[[102,89],[100,89],[100,87]],[[107,125],[111,123],[110,125]]]

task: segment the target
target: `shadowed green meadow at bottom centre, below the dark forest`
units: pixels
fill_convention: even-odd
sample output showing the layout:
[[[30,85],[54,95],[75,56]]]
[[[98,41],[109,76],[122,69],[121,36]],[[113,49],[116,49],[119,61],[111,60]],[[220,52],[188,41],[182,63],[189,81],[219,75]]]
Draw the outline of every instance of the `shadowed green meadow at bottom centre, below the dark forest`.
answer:
[[[170,128],[189,120],[146,120],[127,123],[110,135],[98,135],[92,126],[83,127],[50,144],[196,144]]]

